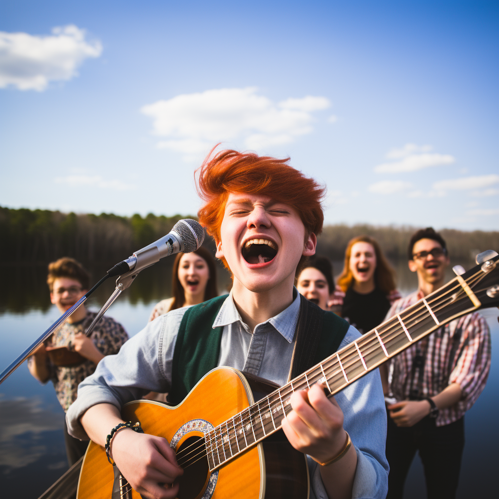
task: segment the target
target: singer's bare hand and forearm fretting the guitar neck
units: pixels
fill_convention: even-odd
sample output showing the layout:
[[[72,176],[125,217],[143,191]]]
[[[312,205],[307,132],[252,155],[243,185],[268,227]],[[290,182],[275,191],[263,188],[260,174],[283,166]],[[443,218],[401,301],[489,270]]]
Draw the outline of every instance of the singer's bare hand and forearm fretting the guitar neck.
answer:
[[[290,399],[293,411],[282,421],[289,443],[318,463],[337,456],[346,440],[343,413],[334,397],[326,397],[324,389],[323,383],[317,383],[310,390],[295,392]],[[339,461],[320,467],[329,499],[352,497],[356,468],[357,453],[353,446]]]

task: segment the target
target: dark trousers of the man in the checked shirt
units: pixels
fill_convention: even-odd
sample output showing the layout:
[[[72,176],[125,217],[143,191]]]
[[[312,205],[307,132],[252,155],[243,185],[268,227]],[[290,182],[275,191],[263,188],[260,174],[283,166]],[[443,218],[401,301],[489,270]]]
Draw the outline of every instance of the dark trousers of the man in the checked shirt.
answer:
[[[402,499],[404,482],[419,451],[428,499],[454,499],[465,447],[464,418],[436,426],[428,417],[410,428],[399,428],[388,415],[386,458],[390,465],[387,499]]]

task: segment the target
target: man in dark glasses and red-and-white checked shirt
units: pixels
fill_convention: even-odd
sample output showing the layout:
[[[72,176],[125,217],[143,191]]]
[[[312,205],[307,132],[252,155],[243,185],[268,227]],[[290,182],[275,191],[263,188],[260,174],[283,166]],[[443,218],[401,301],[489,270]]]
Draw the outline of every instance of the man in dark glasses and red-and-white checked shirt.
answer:
[[[387,318],[444,284],[450,263],[442,236],[431,227],[416,232],[408,248],[418,290],[396,301]],[[428,299],[433,306],[431,299]],[[491,336],[485,319],[456,319],[380,366],[387,402],[387,499],[402,498],[419,451],[428,498],[455,498],[465,444],[464,415],[482,393],[491,366]]]

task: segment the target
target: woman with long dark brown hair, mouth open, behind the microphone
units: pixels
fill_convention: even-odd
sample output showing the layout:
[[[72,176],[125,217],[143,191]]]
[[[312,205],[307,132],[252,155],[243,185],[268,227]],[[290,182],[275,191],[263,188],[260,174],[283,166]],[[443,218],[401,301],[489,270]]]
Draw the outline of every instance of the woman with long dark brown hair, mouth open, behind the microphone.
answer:
[[[156,304],[149,321],[175,310],[197,305],[218,296],[217,267],[211,252],[204,247],[192,253],[178,253],[173,263],[171,298]]]

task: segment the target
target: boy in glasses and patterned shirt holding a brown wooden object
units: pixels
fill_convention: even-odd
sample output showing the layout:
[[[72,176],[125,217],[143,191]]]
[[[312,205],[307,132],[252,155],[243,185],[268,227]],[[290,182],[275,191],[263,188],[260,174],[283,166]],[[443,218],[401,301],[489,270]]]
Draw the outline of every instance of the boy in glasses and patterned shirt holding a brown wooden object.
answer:
[[[50,301],[59,312],[71,308],[90,288],[90,276],[81,263],[63,257],[48,265]],[[78,384],[95,371],[106,355],[118,353],[128,339],[123,326],[103,316],[90,337],[84,331],[96,312],[80,305],[64,324],[28,358],[31,375],[41,383],[52,381],[57,399],[66,412],[76,400]],[[64,443],[69,466],[85,454],[88,442],[71,437],[64,419]]]

